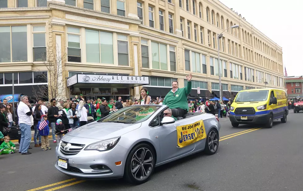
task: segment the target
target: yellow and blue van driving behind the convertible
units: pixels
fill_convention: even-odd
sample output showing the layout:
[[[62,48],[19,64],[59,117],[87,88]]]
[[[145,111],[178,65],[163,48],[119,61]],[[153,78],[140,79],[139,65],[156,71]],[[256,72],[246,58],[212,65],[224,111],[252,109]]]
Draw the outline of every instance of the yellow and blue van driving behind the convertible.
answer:
[[[265,124],[273,121],[286,123],[288,115],[287,96],[284,90],[264,88],[239,91],[230,107],[229,120],[233,127],[239,124]]]

